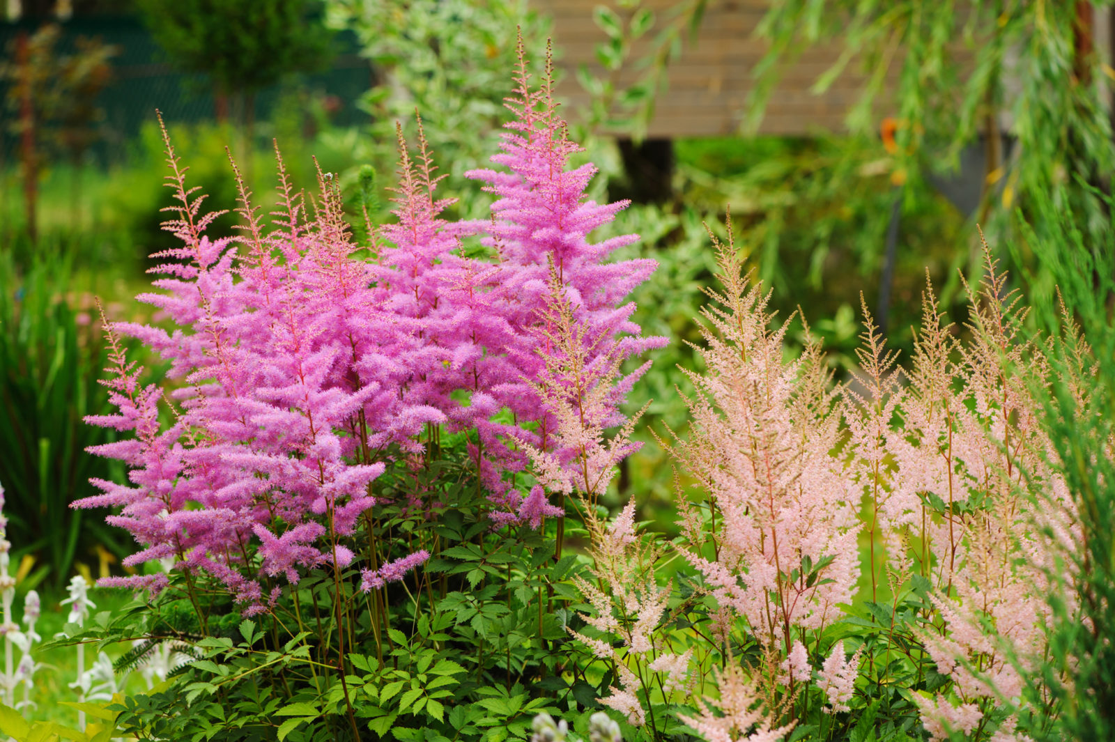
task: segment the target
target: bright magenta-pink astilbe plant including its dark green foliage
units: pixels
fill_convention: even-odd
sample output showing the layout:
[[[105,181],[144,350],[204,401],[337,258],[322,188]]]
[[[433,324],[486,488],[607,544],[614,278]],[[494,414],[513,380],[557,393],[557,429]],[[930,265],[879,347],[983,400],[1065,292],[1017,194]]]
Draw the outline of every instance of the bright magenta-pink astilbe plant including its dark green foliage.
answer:
[[[281,674],[285,699],[327,709],[318,732],[334,734],[328,717],[340,714],[353,736],[358,716],[386,734],[424,709],[427,721],[479,734],[503,722],[466,701],[489,690],[497,662],[506,694],[546,676],[564,684],[554,604],[569,596],[555,583],[574,560],[547,556],[561,556],[563,498],[605,484],[632,450],[626,435],[604,441],[626,422],[620,406],[642,370],[619,369],[665,339],[640,336],[624,304],[653,261],[607,262],[638,237],[589,237],[626,204],[586,199],[595,170],[570,165],[579,148],[558,115],[552,68],[535,90],[520,58],[502,154],[473,174],[496,195],[486,222],[442,218],[448,202],[435,195],[419,121],[417,154],[400,137],[397,218],[372,226],[367,243],[352,236],[334,179],[319,172],[308,208],[278,149],[274,218],[260,216],[236,173],[241,233],[213,237],[216,215],[167,139],[177,203],[166,228],[182,246],[159,254],[157,291],[139,296],[165,322],[106,323],[105,384],[118,412],[89,421],[132,433],[95,449],[123,460],[128,481],[98,480],[104,494],[75,506],[118,508],[108,520],[140,549],[124,564],[135,574],[101,584],[158,595],[145,625],[176,642],[227,633],[230,614],[260,622],[240,634],[280,653],[262,667]],[[169,383],[144,383],[123,336],[164,359]],[[545,461],[537,476],[532,458]],[[562,499],[551,502],[554,492]],[[547,520],[556,549],[542,536]],[[505,622],[526,612],[537,618],[524,641]],[[197,646],[222,661],[254,656]],[[231,693],[230,677],[260,671],[206,692]],[[427,687],[423,673],[444,682]],[[454,695],[446,685],[465,689],[452,722],[438,700]],[[525,715],[515,723],[527,730],[526,714],[547,707],[568,711],[537,701],[504,713]],[[169,712],[142,722],[137,709],[144,734],[154,733],[144,724],[176,723]],[[261,714],[254,724],[273,724]],[[289,719],[280,734],[314,719]]]

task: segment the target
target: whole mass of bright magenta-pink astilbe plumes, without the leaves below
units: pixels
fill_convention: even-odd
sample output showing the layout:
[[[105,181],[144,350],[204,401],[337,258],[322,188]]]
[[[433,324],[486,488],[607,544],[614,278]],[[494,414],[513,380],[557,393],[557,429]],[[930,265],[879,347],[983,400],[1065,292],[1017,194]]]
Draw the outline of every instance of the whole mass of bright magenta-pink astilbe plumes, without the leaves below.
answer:
[[[157,291],[138,299],[171,329],[106,325],[104,383],[117,412],[88,421],[130,433],[94,450],[129,473],[126,482],[95,481],[103,494],[74,504],[119,508],[108,520],[140,545],[125,566],[171,559],[223,583],[249,613],[264,611],[271,577],[295,583],[308,569],[357,559],[365,541],[356,533],[381,497],[377,478],[388,466],[414,466],[423,436],[438,426],[471,431],[497,523],[537,526],[561,515],[541,489],[524,499],[514,486],[526,462],[520,441],[546,455],[556,446],[554,413],[535,389],[546,368],[547,275],[556,271],[576,322],[591,330],[589,367],[665,340],[640,338],[634,306],[623,303],[655,263],[605,262],[638,237],[589,238],[626,204],[585,199],[594,168],[568,167],[579,148],[565,137],[549,79],[532,90],[523,62],[516,81],[515,119],[493,158],[498,169],[474,174],[497,196],[492,221],[440,217],[448,202],[435,198],[439,178],[419,136],[416,157],[401,146],[397,221],[378,230],[371,260],[350,234],[336,179],[319,173],[309,215],[281,158],[272,222],[259,217],[237,174],[243,232],[212,238],[206,227],[217,215],[203,213],[167,139],[177,204],[165,226],[181,246],[159,254]],[[489,260],[460,248],[475,237]],[[168,398],[140,383],[120,335],[168,362]],[[622,422],[619,404],[633,379],[597,400],[608,424]],[[169,416],[161,417],[164,403]],[[555,456],[566,465],[568,456]],[[365,582],[397,579],[420,554]],[[158,589],[165,579],[106,584]]]

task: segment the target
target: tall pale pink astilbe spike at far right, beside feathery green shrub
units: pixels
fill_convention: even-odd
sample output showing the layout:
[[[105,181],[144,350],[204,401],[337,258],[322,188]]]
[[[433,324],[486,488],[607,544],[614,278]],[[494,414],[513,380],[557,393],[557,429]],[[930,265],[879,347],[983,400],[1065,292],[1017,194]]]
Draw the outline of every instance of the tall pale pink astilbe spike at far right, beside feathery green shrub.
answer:
[[[1006,290],[1006,275],[986,244],[985,256],[983,281],[978,292],[969,287],[972,342],[960,349],[951,403],[953,440],[961,441],[954,447],[958,499],[978,507],[950,519],[956,546],[947,554],[938,549],[932,596],[947,631],[924,635],[938,668],[952,678],[959,703],[939,695],[920,704],[934,739],[943,739],[942,720],[952,730],[971,731],[972,717],[978,721],[1021,696],[1019,673],[1034,672],[1041,662],[1043,627],[1050,612],[1046,596],[1053,544],[1040,534],[1061,534],[1064,546],[1075,550],[1078,533],[1072,498],[1050,468],[1054,449],[1030,396],[1048,370],[1021,332],[1025,310],[1018,307],[1017,294]],[[1040,511],[1027,488],[1047,492]],[[946,540],[943,536],[938,538]],[[958,716],[957,709],[977,711]],[[1002,722],[999,738],[1015,739],[1014,724],[1012,717]]]

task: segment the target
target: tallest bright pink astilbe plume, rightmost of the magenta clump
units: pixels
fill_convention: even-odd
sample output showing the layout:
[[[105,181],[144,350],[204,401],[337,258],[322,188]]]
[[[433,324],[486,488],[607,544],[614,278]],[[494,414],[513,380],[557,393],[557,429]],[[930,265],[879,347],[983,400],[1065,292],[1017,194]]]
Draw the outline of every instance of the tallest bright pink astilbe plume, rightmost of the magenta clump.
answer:
[[[521,41],[520,59],[517,88],[507,99],[515,118],[505,126],[502,154],[492,157],[505,169],[466,174],[485,182],[486,189],[496,195],[493,219],[465,226],[484,235],[484,244],[496,250],[500,258],[493,281],[503,292],[496,305],[502,323],[498,333],[484,336],[487,348],[496,351],[488,363],[491,382],[485,391],[498,406],[510,409],[517,422],[479,421],[479,442],[492,461],[485,469],[486,484],[497,502],[506,488],[501,472],[525,463],[523,452],[507,442],[523,441],[540,451],[551,449],[556,424],[551,418],[553,410],[540,398],[533,381],[545,365],[546,353],[536,351],[545,345],[546,334],[539,328],[545,326],[554,281],[583,328],[584,341],[591,343],[584,363],[589,375],[602,378],[611,364],[666,343],[665,338],[640,338],[630,319],[634,304],[620,304],[653,272],[655,261],[604,262],[613,251],[638,241],[638,235],[589,241],[589,234],[611,222],[628,202],[602,205],[585,201],[585,187],[597,170],[591,164],[569,169],[570,157],[581,148],[569,140],[565,123],[558,115],[552,65],[547,61],[542,89],[532,90]],[[621,334],[627,336],[621,339]],[[638,369],[599,400],[602,424],[623,421],[619,402],[644,370]],[[536,430],[525,427],[529,422],[537,423]],[[555,466],[560,469],[561,462]],[[558,469],[551,469],[554,476]]]

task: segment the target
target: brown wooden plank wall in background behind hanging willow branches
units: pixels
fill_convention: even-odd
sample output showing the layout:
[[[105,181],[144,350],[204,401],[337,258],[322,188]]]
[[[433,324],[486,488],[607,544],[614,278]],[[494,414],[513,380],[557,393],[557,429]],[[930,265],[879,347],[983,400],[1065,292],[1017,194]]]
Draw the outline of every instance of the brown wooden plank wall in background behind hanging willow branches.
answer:
[[[534,7],[553,19],[552,33],[559,51],[558,67],[564,75],[559,88],[574,110],[586,105],[588,94],[576,80],[580,65],[588,65],[594,75],[604,75],[597,61],[597,45],[607,40],[593,20],[593,9],[601,0],[532,0]],[[605,3],[615,7],[614,3]],[[658,18],[658,28],[670,18],[677,4],[671,0],[646,0]],[[669,68],[669,87],[660,95],[648,136],[689,137],[735,134],[745,116],[748,95],[755,84],[755,68],[766,53],[766,43],[756,38],[755,29],[763,19],[769,0],[708,0],[708,7],[695,43],[686,33],[685,50]],[[644,51],[646,43],[636,47],[634,56]],[[778,87],[766,107],[759,133],[773,135],[809,135],[818,130],[838,131],[845,128],[845,115],[859,100],[864,85],[862,68],[856,61],[823,94],[811,88],[817,78],[837,59],[837,46],[814,46],[803,50],[795,64],[785,68]],[[892,74],[898,65],[892,66]],[[624,70],[621,82],[636,78],[634,70]]]

